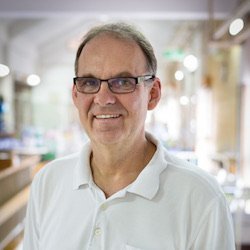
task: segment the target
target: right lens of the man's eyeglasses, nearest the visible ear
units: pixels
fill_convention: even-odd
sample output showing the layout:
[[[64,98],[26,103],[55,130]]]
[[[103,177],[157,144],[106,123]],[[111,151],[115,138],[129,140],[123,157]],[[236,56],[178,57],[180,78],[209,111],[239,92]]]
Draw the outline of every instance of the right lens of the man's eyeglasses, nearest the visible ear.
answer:
[[[130,77],[113,78],[108,83],[110,89],[115,93],[129,93],[135,90],[136,79]]]

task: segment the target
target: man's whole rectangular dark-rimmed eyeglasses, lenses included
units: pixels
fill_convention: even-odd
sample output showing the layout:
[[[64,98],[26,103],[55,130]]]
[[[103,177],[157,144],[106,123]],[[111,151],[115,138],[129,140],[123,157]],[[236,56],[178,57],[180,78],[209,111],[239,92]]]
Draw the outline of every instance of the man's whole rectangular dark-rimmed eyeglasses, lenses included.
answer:
[[[145,81],[154,80],[154,75],[138,77],[116,77],[110,79],[98,79],[94,77],[74,77],[74,84],[78,92],[95,94],[101,88],[102,82],[107,82],[111,92],[125,94],[135,91],[136,85]]]

